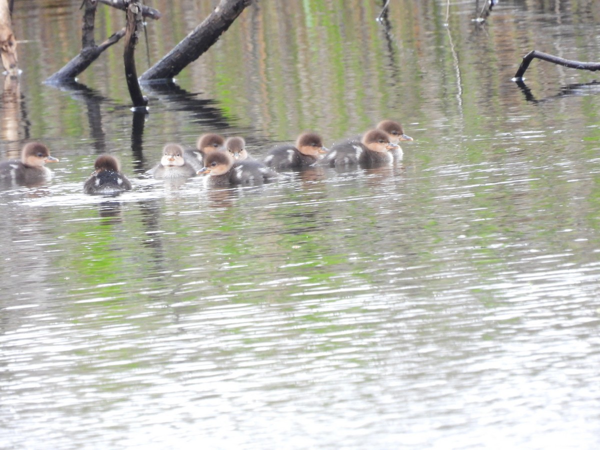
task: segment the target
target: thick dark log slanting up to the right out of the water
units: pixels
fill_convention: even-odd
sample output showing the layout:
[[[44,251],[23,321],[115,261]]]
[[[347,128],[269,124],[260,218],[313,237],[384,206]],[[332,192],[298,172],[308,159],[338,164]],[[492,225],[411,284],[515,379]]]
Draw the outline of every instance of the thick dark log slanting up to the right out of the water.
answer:
[[[196,61],[202,53],[206,52],[251,3],[252,0],[221,0],[215,10],[184,40],[146,70],[140,77],[140,81],[173,79],[190,62]]]

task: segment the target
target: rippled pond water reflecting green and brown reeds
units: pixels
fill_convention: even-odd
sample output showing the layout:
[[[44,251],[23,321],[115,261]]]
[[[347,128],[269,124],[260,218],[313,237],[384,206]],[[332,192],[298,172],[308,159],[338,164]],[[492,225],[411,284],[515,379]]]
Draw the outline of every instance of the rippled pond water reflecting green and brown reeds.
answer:
[[[533,49],[598,61],[600,5],[506,0],[481,23],[484,2],[398,0],[377,23],[382,3],[256,2],[145,86],[144,117],[121,43],[44,83],[79,52],[80,0],[15,2],[2,157],[35,139],[60,162],[0,193],[1,448],[598,448],[597,76],[511,77]],[[146,4],[139,74],[214,6]],[[100,43],[124,17],[98,8]],[[262,158],[384,118],[415,139],[391,167],[145,175],[206,131]],[[82,193],[104,152],[133,191]]]

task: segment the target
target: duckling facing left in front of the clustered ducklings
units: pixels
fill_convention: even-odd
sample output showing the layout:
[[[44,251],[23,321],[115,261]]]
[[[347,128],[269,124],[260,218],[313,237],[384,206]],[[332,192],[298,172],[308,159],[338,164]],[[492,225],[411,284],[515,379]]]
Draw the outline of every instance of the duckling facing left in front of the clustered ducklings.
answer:
[[[236,184],[259,185],[280,178],[274,170],[269,169],[256,160],[235,162],[229,152],[213,152],[206,155],[205,167],[199,174],[208,174],[205,179],[207,187]]]

